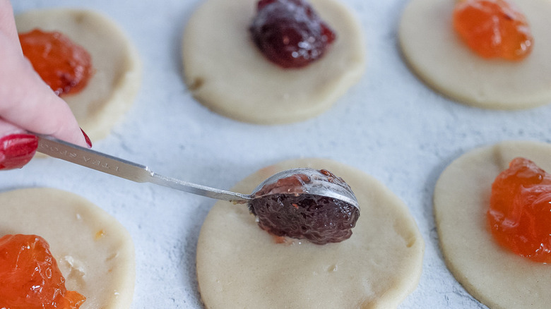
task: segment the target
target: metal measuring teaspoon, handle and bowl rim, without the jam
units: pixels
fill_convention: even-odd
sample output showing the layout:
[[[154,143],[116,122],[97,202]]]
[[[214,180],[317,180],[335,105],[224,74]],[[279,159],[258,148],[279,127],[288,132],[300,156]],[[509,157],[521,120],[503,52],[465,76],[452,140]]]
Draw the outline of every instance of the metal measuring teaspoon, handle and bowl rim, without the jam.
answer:
[[[358,211],[360,210],[360,205],[358,205],[350,187],[324,180],[323,177],[319,177],[319,171],[316,169],[300,168],[281,171],[269,177],[266,181],[263,181],[251,194],[247,195],[162,176],[151,171],[148,166],[129,162],[109,154],[89,150],[71,143],[66,143],[63,140],[58,140],[51,136],[33,134],[38,137],[38,152],[138,183],[155,183],[160,186],[203,195],[208,198],[228,200],[235,203],[248,203],[255,198],[260,198],[256,193],[264,186],[294,174],[304,174],[311,178],[311,181],[302,184],[302,193],[341,200],[356,207]]]

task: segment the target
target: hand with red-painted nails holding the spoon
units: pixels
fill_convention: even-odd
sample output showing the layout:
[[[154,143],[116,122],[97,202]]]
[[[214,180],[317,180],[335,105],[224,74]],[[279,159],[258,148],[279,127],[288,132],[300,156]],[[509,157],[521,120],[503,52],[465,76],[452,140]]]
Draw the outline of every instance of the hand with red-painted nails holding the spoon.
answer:
[[[92,147],[66,102],[23,56],[11,4],[0,0],[0,170],[32,159],[38,140],[28,132]]]

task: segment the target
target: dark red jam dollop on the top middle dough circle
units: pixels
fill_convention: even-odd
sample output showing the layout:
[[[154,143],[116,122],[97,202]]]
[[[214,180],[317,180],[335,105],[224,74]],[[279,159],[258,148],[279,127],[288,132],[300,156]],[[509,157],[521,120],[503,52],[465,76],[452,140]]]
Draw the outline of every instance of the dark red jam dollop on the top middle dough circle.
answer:
[[[304,0],[260,0],[249,30],[262,54],[283,68],[320,59],[336,39]]]

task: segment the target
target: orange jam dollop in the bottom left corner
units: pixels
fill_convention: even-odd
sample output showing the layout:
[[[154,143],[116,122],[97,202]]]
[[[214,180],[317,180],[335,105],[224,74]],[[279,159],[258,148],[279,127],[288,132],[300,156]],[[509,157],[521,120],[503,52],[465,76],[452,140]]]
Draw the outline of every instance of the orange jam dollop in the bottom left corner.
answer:
[[[65,279],[44,238],[0,238],[0,308],[76,309],[85,297],[67,291]]]

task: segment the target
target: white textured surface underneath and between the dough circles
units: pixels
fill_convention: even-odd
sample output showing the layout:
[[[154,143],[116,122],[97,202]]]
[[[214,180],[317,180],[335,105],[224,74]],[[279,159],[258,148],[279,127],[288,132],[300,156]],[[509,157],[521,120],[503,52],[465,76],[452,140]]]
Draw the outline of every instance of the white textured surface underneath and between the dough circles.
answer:
[[[473,147],[509,139],[550,142],[551,106],[488,111],[437,95],[401,59],[396,29],[405,0],[343,1],[364,28],[367,71],[332,109],[285,126],[225,119],[191,98],[180,73],[180,39],[199,0],[12,2],[16,12],[95,8],[116,20],[136,44],[143,86],[134,107],[108,138],[94,144],[95,150],[218,188],[230,188],[256,169],[295,157],[325,157],[355,166],[405,201],[425,237],[420,285],[401,308],[484,308],[442,260],[432,216],[434,183],[447,164]],[[32,186],[82,195],[129,229],[136,245],[133,308],[201,308],[195,249],[214,200],[51,158],[0,172],[1,191]]]

